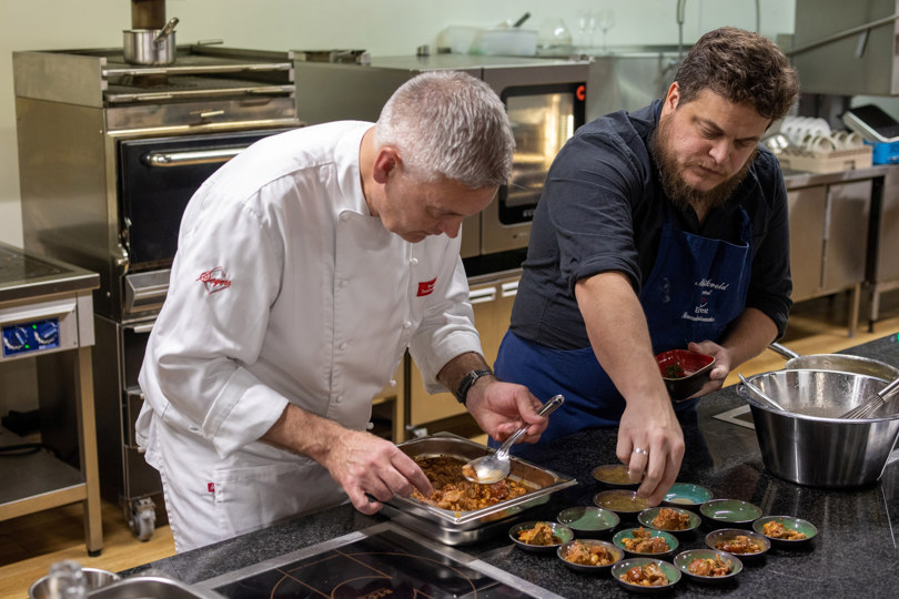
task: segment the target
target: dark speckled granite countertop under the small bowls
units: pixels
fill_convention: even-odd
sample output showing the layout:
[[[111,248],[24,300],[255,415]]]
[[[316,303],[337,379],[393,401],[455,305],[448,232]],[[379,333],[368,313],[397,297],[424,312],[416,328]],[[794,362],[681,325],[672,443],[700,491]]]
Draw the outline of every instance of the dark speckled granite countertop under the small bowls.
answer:
[[[897,335],[845,353],[899,366]],[[859,489],[827,490],[787,483],[765,469],[754,430],[714,418],[741,405],[734,387],[699,402],[695,417],[683,422],[687,450],[678,480],[703,485],[718,498],[750,501],[764,515],[805,518],[818,528],[818,535],[808,549],[774,547],[757,562],[745,561],[743,572],[725,586],[703,586],[683,578],[674,595],[899,597],[899,460],[887,466],[876,485]],[[525,517],[555,519],[563,508],[593,505],[593,496],[602,489],[590,473],[597,465],[616,461],[615,444],[614,428],[584,430],[550,444],[544,459],[532,461],[573,476],[578,484],[554,494]],[[385,520],[344,505],[122,573],[155,572],[195,585]],[[706,532],[700,528],[681,538],[678,551],[704,548]],[[573,572],[555,556],[524,552],[505,536],[455,549],[564,597],[624,592],[608,575]]]

